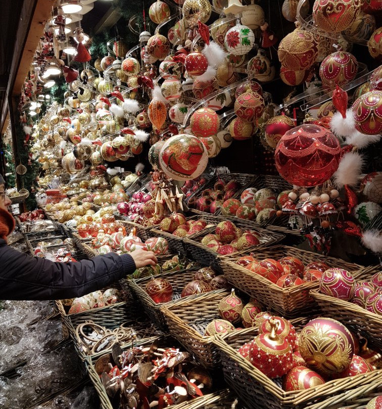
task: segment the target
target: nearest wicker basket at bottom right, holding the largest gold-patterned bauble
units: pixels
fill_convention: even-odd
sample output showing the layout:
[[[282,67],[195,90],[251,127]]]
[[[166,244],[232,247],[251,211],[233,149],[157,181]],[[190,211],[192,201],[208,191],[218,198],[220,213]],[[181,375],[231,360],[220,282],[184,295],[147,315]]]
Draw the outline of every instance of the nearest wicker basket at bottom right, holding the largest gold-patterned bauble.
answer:
[[[247,330],[244,330],[247,331]],[[240,331],[238,331],[240,333]],[[248,329],[245,342],[257,335]],[[285,392],[281,379],[271,380],[237,352],[237,335],[215,336],[212,341],[219,352],[227,384],[246,402],[249,409],[334,409],[348,406],[355,398],[369,396],[382,385],[382,370],[355,377],[336,379],[306,390]]]

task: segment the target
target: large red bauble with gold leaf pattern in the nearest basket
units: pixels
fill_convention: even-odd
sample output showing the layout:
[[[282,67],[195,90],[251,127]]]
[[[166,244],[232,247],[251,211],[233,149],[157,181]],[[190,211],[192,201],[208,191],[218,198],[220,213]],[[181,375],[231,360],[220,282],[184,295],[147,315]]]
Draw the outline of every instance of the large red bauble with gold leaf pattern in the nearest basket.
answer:
[[[307,365],[330,375],[345,371],[354,354],[354,341],[341,322],[315,318],[300,333],[299,351]]]

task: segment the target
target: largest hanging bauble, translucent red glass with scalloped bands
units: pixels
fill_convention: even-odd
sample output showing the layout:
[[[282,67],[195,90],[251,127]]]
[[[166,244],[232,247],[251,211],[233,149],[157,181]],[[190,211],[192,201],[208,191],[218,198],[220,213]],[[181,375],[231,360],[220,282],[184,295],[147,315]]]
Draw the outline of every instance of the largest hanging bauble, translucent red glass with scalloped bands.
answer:
[[[279,174],[297,186],[317,186],[338,169],[341,147],[338,139],[318,125],[304,124],[286,132],[275,151]]]

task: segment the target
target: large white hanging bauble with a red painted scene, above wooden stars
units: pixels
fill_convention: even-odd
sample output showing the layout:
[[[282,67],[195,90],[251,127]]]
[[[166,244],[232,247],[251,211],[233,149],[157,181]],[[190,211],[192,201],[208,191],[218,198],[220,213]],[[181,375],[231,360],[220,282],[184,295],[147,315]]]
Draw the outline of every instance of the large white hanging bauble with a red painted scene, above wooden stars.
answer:
[[[176,135],[164,143],[159,163],[169,178],[179,181],[195,179],[207,167],[207,149],[194,135]]]

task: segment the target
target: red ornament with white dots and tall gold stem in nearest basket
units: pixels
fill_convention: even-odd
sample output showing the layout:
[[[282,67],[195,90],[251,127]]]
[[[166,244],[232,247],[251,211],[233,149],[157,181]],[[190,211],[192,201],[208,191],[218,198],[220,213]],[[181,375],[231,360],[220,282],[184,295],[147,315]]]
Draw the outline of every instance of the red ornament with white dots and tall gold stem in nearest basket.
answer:
[[[293,365],[292,347],[276,334],[278,323],[270,319],[271,331],[258,335],[250,348],[250,362],[269,378],[285,375]]]

